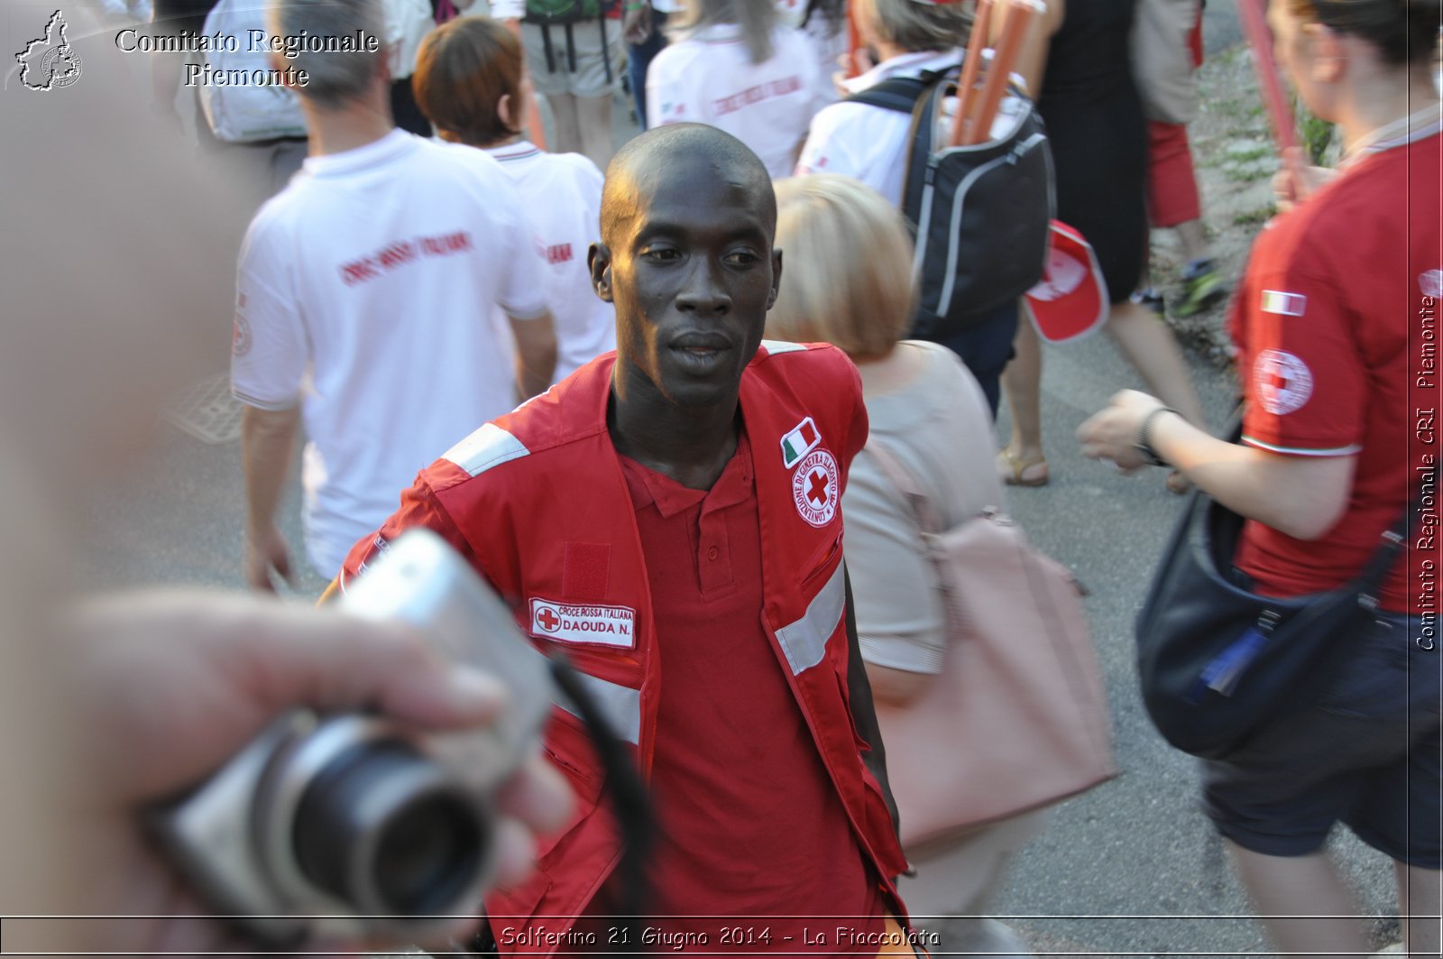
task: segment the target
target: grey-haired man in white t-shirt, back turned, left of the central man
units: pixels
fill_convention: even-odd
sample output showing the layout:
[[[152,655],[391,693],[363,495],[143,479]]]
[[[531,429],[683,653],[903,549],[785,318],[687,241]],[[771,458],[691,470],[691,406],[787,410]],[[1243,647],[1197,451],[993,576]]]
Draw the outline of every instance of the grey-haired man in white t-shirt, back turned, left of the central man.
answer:
[[[378,0],[278,0],[267,26],[378,36],[381,17]],[[333,576],[397,490],[544,390],[556,365],[543,263],[501,166],[397,130],[384,51],[303,51],[278,65],[309,74],[296,92],[310,156],[247,231],[231,347],[257,589],[290,572],[274,514],[302,419],[306,547]]]

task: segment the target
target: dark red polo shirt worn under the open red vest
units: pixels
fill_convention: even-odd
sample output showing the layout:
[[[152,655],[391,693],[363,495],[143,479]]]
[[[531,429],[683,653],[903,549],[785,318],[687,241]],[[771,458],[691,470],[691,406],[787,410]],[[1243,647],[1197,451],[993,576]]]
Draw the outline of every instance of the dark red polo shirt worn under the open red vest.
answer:
[[[678,936],[659,949],[704,933],[706,945],[684,950],[876,955],[863,936],[882,932],[882,893],[762,628],[746,436],[711,490],[688,490],[625,456],[622,471],[659,640],[658,919],[648,926]],[[838,926],[861,942],[838,942]],[[753,933],[723,943],[723,929],[737,927]]]

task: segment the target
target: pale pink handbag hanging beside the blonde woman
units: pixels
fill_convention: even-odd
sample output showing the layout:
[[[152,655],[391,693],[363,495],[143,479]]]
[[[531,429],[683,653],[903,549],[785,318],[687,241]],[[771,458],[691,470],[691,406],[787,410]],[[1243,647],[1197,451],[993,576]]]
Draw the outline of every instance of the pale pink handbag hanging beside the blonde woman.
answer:
[[[996,511],[938,530],[902,464],[880,445],[866,449],[912,505],[947,607],[941,674],[912,706],[877,703],[902,845],[965,833],[1117,776],[1072,575]]]

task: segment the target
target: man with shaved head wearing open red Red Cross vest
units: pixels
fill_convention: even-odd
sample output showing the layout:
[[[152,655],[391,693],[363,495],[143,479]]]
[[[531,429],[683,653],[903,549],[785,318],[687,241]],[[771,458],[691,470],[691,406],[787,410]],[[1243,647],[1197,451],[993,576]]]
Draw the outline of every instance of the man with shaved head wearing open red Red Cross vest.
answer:
[[[652,943],[911,955],[841,557],[861,386],[833,347],[762,341],[775,224],[765,168],[726,133],[628,143],[589,260],[616,354],[426,469],[341,583],[424,524],[564,647],[651,787]],[[488,897],[491,933],[502,953],[625,946],[608,943],[619,836],[566,703],[545,745],[577,815],[532,880]]]

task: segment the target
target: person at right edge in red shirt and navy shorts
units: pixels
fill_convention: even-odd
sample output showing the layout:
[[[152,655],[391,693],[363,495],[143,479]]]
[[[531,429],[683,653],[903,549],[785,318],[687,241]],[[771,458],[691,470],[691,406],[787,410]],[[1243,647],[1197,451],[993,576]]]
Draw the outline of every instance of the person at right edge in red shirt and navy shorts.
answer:
[[[1338,170],[1280,176],[1232,308],[1242,443],[1126,390],[1084,423],[1084,452],[1147,454],[1248,517],[1235,557],[1257,592],[1351,579],[1421,482],[1436,495],[1439,209],[1436,0],[1274,0],[1277,59],[1338,124]],[[1429,488],[1429,485],[1433,488]],[[1429,507],[1417,518],[1436,517]],[[1436,520],[1433,521],[1436,526]],[[1336,822],[1395,861],[1404,937],[1439,955],[1440,739],[1431,527],[1384,581],[1375,622],[1317,702],[1203,763],[1205,806],[1278,949],[1368,952],[1323,845]]]

